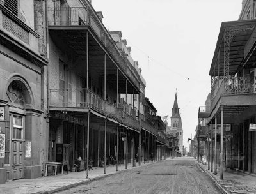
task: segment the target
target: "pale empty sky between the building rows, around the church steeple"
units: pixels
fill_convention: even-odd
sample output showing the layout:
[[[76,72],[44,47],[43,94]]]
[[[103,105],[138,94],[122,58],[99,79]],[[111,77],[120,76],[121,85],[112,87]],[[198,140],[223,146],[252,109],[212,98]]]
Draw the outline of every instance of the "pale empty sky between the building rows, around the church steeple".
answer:
[[[157,115],[172,116],[177,100],[184,146],[195,135],[198,107],[210,93],[209,70],[221,22],[237,20],[242,0],[92,0],[109,31],[122,31],[147,82]]]

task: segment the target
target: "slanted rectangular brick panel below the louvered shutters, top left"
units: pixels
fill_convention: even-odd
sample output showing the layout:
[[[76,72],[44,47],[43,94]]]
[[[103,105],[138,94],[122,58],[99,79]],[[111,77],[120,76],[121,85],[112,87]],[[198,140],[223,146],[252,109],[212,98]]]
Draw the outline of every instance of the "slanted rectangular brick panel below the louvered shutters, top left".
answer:
[[[14,36],[19,38],[19,40],[24,41],[29,45],[29,33],[13,20],[3,14],[3,28],[12,33]]]

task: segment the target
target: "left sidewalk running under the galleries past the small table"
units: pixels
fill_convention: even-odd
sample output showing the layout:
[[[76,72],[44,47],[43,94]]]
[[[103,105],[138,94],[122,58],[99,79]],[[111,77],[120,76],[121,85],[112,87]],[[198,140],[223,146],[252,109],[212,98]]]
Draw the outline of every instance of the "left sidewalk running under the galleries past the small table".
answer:
[[[132,167],[132,164],[127,165],[127,170],[132,168],[142,167],[151,163],[141,162],[141,166]],[[5,184],[0,184],[1,194],[31,194],[31,193],[54,193],[56,191],[65,190],[79,184],[88,183],[95,179],[100,179],[111,174],[117,174],[125,171],[125,165],[118,165],[118,171],[115,166],[106,167],[106,174],[104,174],[104,168],[93,167],[93,170],[89,171],[89,179],[86,179],[86,171],[70,172],[61,176],[58,174],[55,176],[41,177],[38,179],[19,179],[17,181],[8,181]]]

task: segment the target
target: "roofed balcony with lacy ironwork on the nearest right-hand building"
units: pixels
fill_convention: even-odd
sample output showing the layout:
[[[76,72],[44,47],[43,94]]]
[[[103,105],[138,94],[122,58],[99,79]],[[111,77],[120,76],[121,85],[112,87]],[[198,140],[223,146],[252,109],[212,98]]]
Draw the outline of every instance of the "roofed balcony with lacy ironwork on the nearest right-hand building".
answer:
[[[209,121],[223,110],[224,122],[255,105],[256,20],[223,22],[209,75],[211,110]]]

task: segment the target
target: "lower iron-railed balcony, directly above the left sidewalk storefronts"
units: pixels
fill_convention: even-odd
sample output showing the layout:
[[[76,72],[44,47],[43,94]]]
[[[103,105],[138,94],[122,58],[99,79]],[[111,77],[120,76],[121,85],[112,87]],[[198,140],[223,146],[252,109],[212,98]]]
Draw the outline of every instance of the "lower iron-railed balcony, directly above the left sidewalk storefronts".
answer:
[[[90,89],[50,89],[50,110],[81,111],[92,109],[140,131],[140,122],[100,98]]]

